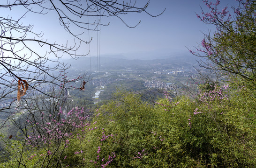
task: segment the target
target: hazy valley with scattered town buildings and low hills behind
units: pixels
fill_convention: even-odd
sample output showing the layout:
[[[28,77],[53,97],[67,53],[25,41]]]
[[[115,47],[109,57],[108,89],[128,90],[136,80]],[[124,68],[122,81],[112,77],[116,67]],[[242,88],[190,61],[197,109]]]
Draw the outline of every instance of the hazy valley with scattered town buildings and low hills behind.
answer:
[[[111,63],[110,63],[111,62]],[[86,97],[89,104],[96,104],[102,100],[110,99],[111,95],[118,89],[123,88],[129,91],[143,91],[150,89],[160,89],[166,91],[179,91],[186,86],[196,85],[193,80],[199,78],[199,73],[193,66],[194,62],[172,60],[124,60],[118,58],[105,58],[101,61],[100,70],[92,69],[88,59],[74,63],[67,70],[67,79],[72,80],[78,76],[86,75],[87,83],[85,90],[79,93],[79,97]],[[84,65],[85,64],[85,65]],[[76,82],[75,87],[79,88],[80,83]],[[40,90],[51,91],[48,85],[39,86]],[[36,91],[39,93],[39,91]],[[28,91],[28,94],[31,92]],[[14,98],[15,98],[14,93]],[[69,100],[75,100],[77,93],[68,91]],[[25,97],[24,97],[25,98]],[[1,108],[12,103],[12,99],[6,99],[0,104]],[[15,105],[14,103],[12,105]]]

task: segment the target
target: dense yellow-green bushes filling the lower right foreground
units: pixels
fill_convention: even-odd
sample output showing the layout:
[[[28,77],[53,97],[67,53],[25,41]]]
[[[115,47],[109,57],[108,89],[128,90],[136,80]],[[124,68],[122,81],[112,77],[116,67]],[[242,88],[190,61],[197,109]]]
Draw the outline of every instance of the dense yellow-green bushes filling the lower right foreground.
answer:
[[[232,99],[205,102],[162,99],[162,105],[152,107],[137,95],[120,92],[100,109],[98,130],[90,132],[90,142],[82,147],[88,151],[85,161],[93,161],[86,166],[93,167],[94,161],[100,166],[114,153],[109,167],[251,167],[255,109],[247,113],[251,102],[239,105],[239,97],[236,92]],[[113,137],[100,141],[103,134]],[[101,147],[99,161],[97,147]]]

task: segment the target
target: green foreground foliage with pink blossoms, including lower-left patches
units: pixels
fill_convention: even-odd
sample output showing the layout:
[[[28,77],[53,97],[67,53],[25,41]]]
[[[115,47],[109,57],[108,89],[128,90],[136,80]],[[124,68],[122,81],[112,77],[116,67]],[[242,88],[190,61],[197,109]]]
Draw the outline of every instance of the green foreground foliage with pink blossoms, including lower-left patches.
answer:
[[[197,99],[184,96],[174,101],[167,92],[166,96],[152,105],[138,94],[118,91],[96,110],[90,126],[69,138],[67,150],[57,151],[49,167],[56,167],[58,160],[58,167],[71,168],[256,165],[256,107],[246,87],[215,84],[202,90]],[[10,150],[12,157],[0,167],[17,166],[19,147]],[[33,156],[25,161],[28,168],[36,167],[42,162],[40,154],[46,153],[28,146],[23,161]]]

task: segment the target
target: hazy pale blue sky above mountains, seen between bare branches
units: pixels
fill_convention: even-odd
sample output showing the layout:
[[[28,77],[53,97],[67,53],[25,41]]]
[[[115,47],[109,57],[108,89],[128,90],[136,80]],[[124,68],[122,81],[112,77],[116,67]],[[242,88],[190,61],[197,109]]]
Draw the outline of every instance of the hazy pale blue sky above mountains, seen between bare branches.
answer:
[[[136,5],[143,7],[146,2],[147,0],[137,0]],[[221,0],[220,5],[230,7],[234,3],[235,0]],[[88,53],[90,51],[88,56],[124,56],[130,59],[189,56],[191,54],[188,49],[193,49],[193,46],[201,43],[203,33],[207,34],[210,30],[214,30],[213,26],[204,24],[196,17],[196,13],[201,13],[200,5],[205,6],[202,0],[150,0],[148,13],[158,15],[165,10],[164,13],[158,17],[151,17],[145,13],[121,16],[130,26],[141,21],[136,28],[128,28],[116,17],[101,17],[101,23],[109,23],[109,25],[101,26],[98,35],[97,32],[90,32],[92,42],[90,45],[82,45],[78,52]],[[22,9],[17,9],[17,11],[16,15],[24,13]],[[41,16],[27,14],[26,18],[23,18],[23,23],[33,24],[34,30],[42,32],[44,34],[42,38],[47,41],[64,44],[68,41],[70,45],[73,37],[60,27],[58,18],[54,16],[55,14],[51,12]],[[94,18],[89,17],[89,20],[93,21]],[[83,35],[84,39],[89,39],[87,31],[84,31]]]

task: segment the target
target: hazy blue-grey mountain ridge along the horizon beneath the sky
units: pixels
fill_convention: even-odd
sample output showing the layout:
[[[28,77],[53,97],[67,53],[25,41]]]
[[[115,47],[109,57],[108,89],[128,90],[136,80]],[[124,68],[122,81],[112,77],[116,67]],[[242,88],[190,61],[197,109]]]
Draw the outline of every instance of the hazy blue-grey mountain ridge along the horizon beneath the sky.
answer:
[[[125,59],[123,56],[120,58],[115,56],[100,56],[100,57],[80,57],[79,59],[67,59],[63,60],[64,63],[71,64],[72,69],[84,69],[92,70],[98,69],[98,64],[100,65],[100,70],[125,70],[125,69],[136,69],[145,70],[152,67],[191,67],[196,66],[197,57],[196,56],[170,56],[167,59],[153,59],[153,60],[139,60],[139,59]]]

